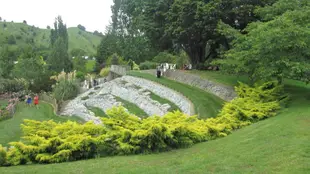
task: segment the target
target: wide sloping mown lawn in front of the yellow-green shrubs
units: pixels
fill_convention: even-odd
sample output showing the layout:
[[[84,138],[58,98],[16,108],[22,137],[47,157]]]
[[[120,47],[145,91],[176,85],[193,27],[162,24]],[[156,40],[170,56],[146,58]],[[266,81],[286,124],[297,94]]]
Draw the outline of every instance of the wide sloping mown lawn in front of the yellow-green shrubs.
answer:
[[[225,138],[161,154],[0,168],[0,173],[310,173],[310,88],[287,84],[289,108]]]

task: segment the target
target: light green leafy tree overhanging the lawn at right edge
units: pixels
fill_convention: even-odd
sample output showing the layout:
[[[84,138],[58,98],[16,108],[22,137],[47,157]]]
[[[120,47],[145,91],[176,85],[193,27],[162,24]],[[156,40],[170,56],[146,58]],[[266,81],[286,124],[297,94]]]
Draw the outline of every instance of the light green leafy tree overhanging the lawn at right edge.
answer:
[[[251,23],[246,35],[234,36],[233,48],[224,55],[225,59],[215,63],[227,71],[248,74],[252,82],[274,78],[282,82],[287,77],[309,81],[310,3],[292,1],[300,4],[291,9],[286,8],[287,0],[279,0],[261,10],[260,13],[267,12],[270,21]],[[275,10],[277,14],[270,17],[269,9],[277,8],[284,10]],[[222,29],[226,34],[231,30]]]

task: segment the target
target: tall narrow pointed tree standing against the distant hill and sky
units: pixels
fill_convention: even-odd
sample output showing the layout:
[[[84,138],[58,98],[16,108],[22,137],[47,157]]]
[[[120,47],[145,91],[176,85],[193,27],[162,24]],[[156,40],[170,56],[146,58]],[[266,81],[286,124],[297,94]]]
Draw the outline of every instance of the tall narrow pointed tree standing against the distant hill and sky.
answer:
[[[73,65],[71,58],[68,55],[69,39],[67,26],[63,23],[60,16],[58,16],[54,23],[54,29],[51,30],[51,54],[48,58],[48,63],[52,71],[55,72],[69,72]]]

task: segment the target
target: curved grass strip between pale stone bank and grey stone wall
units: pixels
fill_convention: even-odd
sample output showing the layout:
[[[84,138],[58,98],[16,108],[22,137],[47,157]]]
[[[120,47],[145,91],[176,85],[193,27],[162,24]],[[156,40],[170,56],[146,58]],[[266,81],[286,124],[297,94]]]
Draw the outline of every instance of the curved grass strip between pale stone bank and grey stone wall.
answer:
[[[130,72],[129,75],[157,82],[177,92],[182,93],[185,97],[192,101],[195,106],[195,111],[196,113],[198,113],[200,118],[215,117],[224,103],[224,101],[219,97],[203,91],[197,87],[192,87],[164,77],[157,78],[152,74],[135,71]]]

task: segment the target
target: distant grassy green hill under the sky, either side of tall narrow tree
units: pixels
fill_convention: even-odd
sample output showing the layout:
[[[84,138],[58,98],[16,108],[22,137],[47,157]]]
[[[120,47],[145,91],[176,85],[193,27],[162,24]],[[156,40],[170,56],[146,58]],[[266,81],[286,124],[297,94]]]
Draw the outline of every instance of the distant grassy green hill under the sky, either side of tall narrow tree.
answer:
[[[77,27],[68,28],[69,53],[72,49],[83,49],[89,55],[95,54],[101,36],[83,31]],[[21,47],[35,44],[37,47],[49,47],[50,29],[41,29],[24,23],[0,22],[0,45],[10,44]]]

